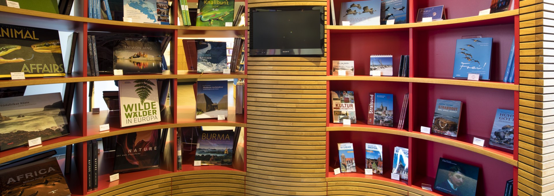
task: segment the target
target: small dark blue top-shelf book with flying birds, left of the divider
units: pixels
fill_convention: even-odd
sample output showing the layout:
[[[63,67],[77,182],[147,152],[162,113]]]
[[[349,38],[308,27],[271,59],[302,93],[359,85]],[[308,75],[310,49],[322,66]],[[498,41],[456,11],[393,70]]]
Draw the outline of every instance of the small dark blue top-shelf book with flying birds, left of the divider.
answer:
[[[387,24],[387,20],[408,23],[408,0],[381,1],[381,24]]]

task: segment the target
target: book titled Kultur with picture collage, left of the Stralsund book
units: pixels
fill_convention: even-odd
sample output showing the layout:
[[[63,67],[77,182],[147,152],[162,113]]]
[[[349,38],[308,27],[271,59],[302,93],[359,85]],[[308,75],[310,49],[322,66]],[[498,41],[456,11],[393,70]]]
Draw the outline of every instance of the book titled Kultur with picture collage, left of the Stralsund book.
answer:
[[[356,123],[354,91],[331,91],[331,100],[333,123],[342,123],[344,119],[350,119],[350,123]]]

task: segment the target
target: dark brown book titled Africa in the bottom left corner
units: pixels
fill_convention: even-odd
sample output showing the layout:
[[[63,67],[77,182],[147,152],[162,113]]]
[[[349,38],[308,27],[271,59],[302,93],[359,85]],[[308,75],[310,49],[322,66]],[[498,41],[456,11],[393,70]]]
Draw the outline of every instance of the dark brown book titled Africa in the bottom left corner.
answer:
[[[71,195],[56,158],[47,158],[0,170],[3,196]]]

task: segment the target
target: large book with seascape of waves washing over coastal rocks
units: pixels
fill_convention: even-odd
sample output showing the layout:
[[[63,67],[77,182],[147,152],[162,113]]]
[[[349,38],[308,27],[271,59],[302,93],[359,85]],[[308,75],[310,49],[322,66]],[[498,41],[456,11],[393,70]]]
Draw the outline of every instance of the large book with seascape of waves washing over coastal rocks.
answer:
[[[0,150],[69,134],[59,92],[0,99]]]

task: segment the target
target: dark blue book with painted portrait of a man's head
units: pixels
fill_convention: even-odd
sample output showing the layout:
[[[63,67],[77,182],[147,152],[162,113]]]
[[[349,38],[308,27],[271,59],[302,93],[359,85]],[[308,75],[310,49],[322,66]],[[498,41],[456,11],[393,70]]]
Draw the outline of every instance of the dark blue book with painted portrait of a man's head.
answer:
[[[478,167],[441,157],[433,188],[449,195],[475,196],[478,177]]]

